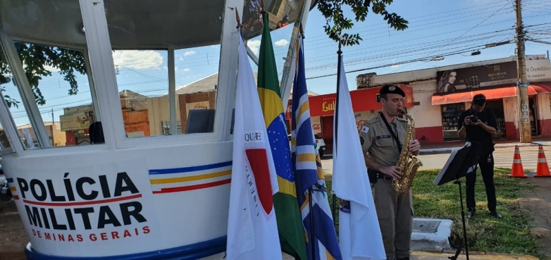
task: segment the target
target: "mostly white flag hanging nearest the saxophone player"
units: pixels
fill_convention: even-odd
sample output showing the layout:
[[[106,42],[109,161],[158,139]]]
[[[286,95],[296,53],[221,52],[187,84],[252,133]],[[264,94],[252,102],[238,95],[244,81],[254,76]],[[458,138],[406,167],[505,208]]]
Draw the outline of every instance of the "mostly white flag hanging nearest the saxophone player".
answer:
[[[342,202],[339,210],[339,243],[342,259],[386,259],[371,185],[352,110],[342,55],[333,129],[333,193]]]

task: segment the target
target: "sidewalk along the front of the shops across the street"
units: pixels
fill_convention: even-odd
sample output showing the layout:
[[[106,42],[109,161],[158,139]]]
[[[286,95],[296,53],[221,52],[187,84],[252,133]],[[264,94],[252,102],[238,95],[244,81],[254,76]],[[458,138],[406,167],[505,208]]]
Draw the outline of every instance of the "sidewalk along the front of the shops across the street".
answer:
[[[497,139],[494,140],[495,142],[495,148],[506,148],[506,147],[514,147],[518,145],[519,147],[537,147],[540,144],[543,146],[549,146],[551,145],[551,138],[550,137],[532,137],[532,142],[525,144],[521,143],[518,140],[506,140],[506,139]],[[450,141],[450,142],[442,142],[438,144],[422,144],[422,149],[420,151],[420,155],[426,155],[426,154],[436,154],[436,153],[451,153],[453,149],[463,147],[465,144],[464,141]]]

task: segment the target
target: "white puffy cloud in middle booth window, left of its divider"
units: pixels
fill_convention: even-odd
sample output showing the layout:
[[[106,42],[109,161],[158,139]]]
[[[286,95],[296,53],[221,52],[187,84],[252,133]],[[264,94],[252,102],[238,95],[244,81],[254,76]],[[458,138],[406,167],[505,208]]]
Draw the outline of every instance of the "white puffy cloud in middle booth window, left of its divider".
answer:
[[[153,50],[115,51],[113,61],[119,67],[132,69],[159,68],[163,64],[163,56]]]

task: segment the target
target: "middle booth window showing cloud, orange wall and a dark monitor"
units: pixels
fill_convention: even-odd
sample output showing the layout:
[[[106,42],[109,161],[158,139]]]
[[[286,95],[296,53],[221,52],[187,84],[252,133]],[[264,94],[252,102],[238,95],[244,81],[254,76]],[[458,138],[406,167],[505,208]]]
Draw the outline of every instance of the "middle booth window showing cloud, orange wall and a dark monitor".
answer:
[[[225,87],[218,84],[225,1],[105,0],[104,7],[118,91],[127,93],[120,96],[127,137],[213,132]]]

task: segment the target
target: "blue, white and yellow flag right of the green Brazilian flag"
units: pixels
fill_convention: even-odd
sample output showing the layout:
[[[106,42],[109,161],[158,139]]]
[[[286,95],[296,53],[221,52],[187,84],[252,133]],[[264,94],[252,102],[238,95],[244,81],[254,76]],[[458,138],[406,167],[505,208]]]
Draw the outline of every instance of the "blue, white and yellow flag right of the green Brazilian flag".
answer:
[[[302,223],[304,224],[306,254],[309,260],[340,260],[342,256],[337,242],[335,226],[333,226],[331,208],[329,208],[329,197],[320,154],[318,147],[315,145],[310,120],[302,36],[299,36],[297,47],[297,71],[293,83],[291,119],[291,159],[295,173],[297,199],[302,215]],[[309,188],[312,188],[312,210],[310,210]],[[313,241],[312,232],[314,235]],[[315,255],[312,255],[312,243],[315,246]]]

